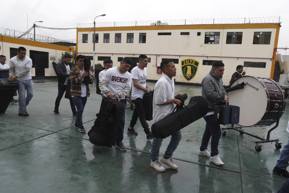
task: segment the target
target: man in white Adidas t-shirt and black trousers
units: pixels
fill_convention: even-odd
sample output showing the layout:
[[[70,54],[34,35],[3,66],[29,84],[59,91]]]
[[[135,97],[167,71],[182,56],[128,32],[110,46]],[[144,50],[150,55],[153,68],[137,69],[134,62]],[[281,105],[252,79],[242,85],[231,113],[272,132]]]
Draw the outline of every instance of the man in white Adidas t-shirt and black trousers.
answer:
[[[147,140],[151,140],[154,138],[154,136],[151,134],[151,131],[148,128],[143,102],[144,93],[149,93],[151,91],[151,89],[146,84],[148,77],[148,69],[146,68],[147,66],[148,57],[144,54],[141,54],[138,57],[138,66],[135,66],[130,72],[132,74],[132,100],[135,104],[135,110],[132,114],[132,119],[127,131],[134,135],[138,134],[138,132],[136,132],[133,127],[139,118],[141,126],[144,128],[144,133],[147,135]]]

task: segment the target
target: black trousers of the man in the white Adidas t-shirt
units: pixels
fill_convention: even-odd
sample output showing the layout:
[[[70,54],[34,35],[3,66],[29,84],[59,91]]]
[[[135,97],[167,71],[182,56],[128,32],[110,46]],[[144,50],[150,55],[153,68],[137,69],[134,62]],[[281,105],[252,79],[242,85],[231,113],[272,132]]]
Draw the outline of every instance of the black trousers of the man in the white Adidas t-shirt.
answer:
[[[148,123],[145,118],[144,102],[142,98],[136,98],[135,100],[133,100],[133,103],[135,104],[135,110],[132,114],[132,119],[130,120],[129,127],[133,128],[139,118],[139,121],[141,121],[141,126],[144,128],[144,133],[149,134],[150,129],[148,128]]]

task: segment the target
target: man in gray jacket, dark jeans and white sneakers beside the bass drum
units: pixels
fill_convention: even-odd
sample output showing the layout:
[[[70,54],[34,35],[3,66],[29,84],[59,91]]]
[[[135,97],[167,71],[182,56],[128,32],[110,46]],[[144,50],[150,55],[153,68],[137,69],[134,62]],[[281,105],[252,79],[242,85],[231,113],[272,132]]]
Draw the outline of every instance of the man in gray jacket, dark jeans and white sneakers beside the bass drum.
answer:
[[[229,97],[222,86],[222,77],[224,74],[224,63],[221,61],[215,61],[212,69],[202,80],[202,96],[206,99],[209,110],[207,115],[204,116],[206,121],[206,128],[203,134],[202,143],[199,155],[204,155],[210,158],[210,161],[216,165],[224,165],[219,158],[218,144],[221,137],[221,128],[214,120],[214,105],[217,100],[224,100],[225,103],[229,103]],[[211,139],[211,153],[207,151],[208,143]]]

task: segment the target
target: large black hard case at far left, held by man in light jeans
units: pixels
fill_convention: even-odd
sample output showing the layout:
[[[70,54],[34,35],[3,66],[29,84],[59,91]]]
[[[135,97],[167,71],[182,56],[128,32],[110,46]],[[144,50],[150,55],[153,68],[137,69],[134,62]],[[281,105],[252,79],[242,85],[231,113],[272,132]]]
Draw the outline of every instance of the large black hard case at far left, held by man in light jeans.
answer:
[[[5,113],[17,89],[17,81],[8,82],[7,79],[0,79],[0,113]]]

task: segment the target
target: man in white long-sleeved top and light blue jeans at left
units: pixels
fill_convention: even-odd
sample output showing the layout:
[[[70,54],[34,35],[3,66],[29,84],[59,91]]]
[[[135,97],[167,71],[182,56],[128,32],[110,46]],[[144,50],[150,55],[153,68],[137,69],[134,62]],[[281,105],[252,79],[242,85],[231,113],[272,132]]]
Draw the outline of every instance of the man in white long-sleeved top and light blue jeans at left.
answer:
[[[33,97],[33,82],[31,76],[32,60],[26,56],[26,49],[19,47],[17,56],[10,59],[9,78],[8,81],[17,81],[19,95],[18,115],[28,116],[26,106]],[[25,90],[27,96],[25,98]]]

